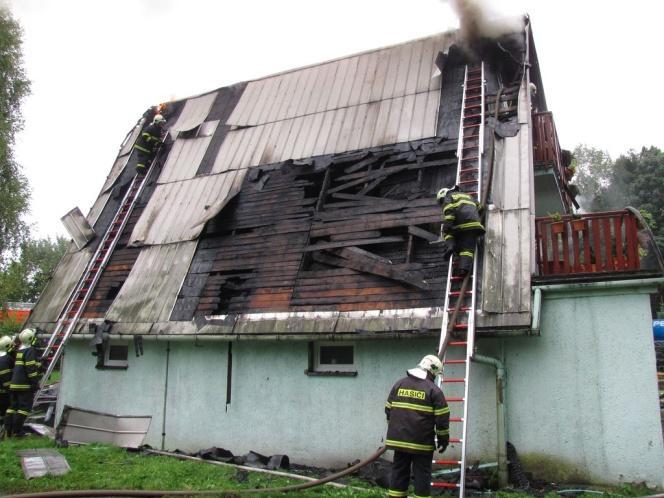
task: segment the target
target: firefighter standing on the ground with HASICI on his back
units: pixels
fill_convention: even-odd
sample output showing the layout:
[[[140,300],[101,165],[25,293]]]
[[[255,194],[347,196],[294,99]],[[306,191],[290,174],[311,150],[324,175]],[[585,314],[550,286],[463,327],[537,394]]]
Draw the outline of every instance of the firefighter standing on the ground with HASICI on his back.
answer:
[[[450,440],[450,409],[434,379],[443,364],[427,355],[392,387],[385,404],[388,427],[385,446],[394,450],[388,496],[408,494],[411,467],[416,497],[430,496],[431,465],[436,446],[441,453]]]

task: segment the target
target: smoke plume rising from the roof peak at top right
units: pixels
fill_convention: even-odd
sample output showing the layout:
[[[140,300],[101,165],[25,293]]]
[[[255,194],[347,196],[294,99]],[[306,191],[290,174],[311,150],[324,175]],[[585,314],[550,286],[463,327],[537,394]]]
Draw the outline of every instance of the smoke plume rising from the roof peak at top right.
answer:
[[[489,0],[442,0],[459,18],[461,37],[473,43],[479,38],[497,38],[520,31],[523,11],[514,2]],[[521,15],[520,15],[521,14]]]

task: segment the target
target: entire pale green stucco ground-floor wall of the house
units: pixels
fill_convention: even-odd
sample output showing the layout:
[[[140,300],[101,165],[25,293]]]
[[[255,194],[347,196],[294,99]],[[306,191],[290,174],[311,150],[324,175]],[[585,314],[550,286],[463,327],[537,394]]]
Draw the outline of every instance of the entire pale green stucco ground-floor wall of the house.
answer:
[[[560,467],[598,482],[664,485],[648,295],[585,289],[544,293],[541,337],[481,339],[478,352],[507,369],[508,440],[537,473]],[[146,443],[166,449],[219,446],[235,454],[286,453],[292,461],[345,465],[383,441],[383,407],[394,381],[436,342],[360,340],[356,377],[312,377],[306,341],[130,344],[127,370],[95,370],[83,341],[67,346],[61,404],[124,415],[151,414]],[[468,461],[496,461],[492,367],[473,364]],[[448,368],[448,377],[459,377]],[[446,384],[447,396],[461,384]],[[453,415],[459,416],[458,404]],[[453,436],[458,425],[453,426]],[[446,456],[458,454],[452,447]],[[534,464],[533,464],[534,465]],[[569,472],[568,472],[569,475]]]

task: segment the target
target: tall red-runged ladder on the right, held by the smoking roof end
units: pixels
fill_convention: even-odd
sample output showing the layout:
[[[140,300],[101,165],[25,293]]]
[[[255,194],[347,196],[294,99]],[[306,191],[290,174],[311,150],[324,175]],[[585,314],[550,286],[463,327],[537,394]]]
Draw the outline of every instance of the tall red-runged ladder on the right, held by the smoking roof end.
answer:
[[[457,175],[456,184],[462,192],[470,195],[479,202],[482,193],[482,152],[484,143],[484,64],[466,66],[463,84],[463,104],[461,107],[461,120],[459,124],[459,144],[457,148]],[[443,357],[446,370],[463,369],[462,377],[444,376],[444,384],[454,384],[463,387],[461,396],[446,397],[451,407],[450,436],[460,432],[461,437],[450,437],[450,444],[461,445],[461,459],[434,460],[450,470],[460,472],[459,482],[444,482],[434,478],[431,483],[434,488],[458,489],[459,496],[465,496],[466,479],[466,448],[468,430],[468,391],[470,379],[470,362],[475,344],[475,298],[477,274],[477,258],[473,258],[473,271],[465,279],[454,275],[456,264],[450,258],[447,271],[447,287],[445,291],[445,304],[443,324],[441,327],[439,356]],[[455,302],[454,308],[452,303]],[[451,314],[451,316],[450,316]],[[465,334],[465,340],[463,335]],[[452,391],[450,386],[445,393]],[[453,393],[457,394],[457,393]],[[461,412],[461,416],[459,415]],[[458,430],[458,427],[461,430]]]

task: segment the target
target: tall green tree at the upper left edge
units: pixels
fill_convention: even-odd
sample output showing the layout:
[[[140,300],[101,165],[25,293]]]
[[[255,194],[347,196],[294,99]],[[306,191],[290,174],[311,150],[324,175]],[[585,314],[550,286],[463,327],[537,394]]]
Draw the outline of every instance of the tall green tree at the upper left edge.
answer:
[[[21,102],[30,93],[21,34],[9,10],[0,7],[0,267],[7,253],[16,251],[29,235],[23,215],[30,189],[13,154],[16,133],[23,126]]]

